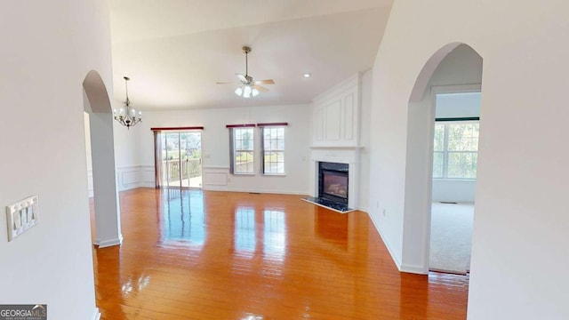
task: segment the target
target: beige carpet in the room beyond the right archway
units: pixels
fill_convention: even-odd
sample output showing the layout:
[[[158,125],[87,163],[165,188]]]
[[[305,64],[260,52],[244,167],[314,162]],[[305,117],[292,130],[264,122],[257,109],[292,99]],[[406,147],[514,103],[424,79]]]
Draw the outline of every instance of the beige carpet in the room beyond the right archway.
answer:
[[[466,274],[470,270],[473,204],[433,203],[429,267],[433,271]]]

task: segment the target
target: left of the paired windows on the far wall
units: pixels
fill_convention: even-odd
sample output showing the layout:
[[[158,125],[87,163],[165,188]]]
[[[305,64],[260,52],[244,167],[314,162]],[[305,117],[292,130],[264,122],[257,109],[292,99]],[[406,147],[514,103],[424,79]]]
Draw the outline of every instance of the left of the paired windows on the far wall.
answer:
[[[234,174],[253,174],[253,128],[231,128],[231,172]]]

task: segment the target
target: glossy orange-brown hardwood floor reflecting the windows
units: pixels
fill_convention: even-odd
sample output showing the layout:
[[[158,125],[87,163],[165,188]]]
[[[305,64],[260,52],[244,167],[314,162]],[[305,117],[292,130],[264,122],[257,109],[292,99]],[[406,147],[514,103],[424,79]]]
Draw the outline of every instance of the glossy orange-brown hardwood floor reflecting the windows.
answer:
[[[468,276],[399,273],[365,212],[300,196],[122,192],[93,250],[102,319],[464,319]]]

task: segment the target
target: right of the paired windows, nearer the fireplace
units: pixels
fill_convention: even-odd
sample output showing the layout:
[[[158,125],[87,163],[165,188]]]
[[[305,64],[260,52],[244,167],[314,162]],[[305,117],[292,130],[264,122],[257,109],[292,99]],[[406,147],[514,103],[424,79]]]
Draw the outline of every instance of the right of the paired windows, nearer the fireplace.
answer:
[[[261,156],[263,174],[284,174],[284,126],[262,126]]]

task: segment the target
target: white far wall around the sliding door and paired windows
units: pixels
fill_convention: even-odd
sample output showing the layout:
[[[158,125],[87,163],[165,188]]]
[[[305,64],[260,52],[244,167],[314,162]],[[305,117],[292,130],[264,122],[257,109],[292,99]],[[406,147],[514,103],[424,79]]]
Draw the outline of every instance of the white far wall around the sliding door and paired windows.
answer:
[[[123,137],[124,146],[132,140],[139,146],[135,156],[121,156],[124,166],[138,166],[154,172],[154,138],[152,127],[204,126],[202,132],[202,156],[204,189],[262,193],[308,194],[309,157],[309,106],[278,106],[254,108],[215,108],[197,110],[148,111],[143,113],[142,123],[131,128]],[[285,176],[253,176],[229,174],[229,137],[226,124],[260,124],[287,122],[285,129]],[[116,129],[118,130],[118,129]],[[259,146],[259,131],[255,130],[255,144]],[[124,136],[126,136],[125,134]],[[258,148],[257,148],[258,149]],[[259,172],[260,155],[255,156]],[[144,173],[141,173],[143,176]],[[148,174],[147,174],[148,176]],[[153,178],[153,177],[150,177]],[[148,181],[147,181],[148,182]],[[154,180],[152,180],[154,186]]]

